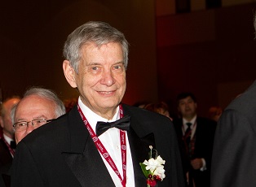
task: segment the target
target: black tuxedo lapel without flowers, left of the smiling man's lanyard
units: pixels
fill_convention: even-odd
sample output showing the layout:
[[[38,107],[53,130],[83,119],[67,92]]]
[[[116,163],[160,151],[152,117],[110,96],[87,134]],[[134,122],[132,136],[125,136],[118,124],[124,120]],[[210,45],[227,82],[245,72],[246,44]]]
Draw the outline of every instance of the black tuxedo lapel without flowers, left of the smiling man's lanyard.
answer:
[[[110,186],[113,180],[104,165],[94,142],[77,111],[73,108],[68,114],[70,139],[66,142],[63,156],[68,167],[81,186]]]

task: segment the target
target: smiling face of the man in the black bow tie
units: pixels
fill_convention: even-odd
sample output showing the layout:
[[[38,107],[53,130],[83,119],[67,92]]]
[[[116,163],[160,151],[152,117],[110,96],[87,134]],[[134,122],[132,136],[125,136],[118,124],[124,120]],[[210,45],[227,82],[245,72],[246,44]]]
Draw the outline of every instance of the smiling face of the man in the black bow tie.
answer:
[[[78,74],[73,73],[74,83],[82,102],[90,110],[105,118],[112,118],[113,111],[126,91],[126,69],[121,45],[111,42],[97,47],[94,43],[82,47],[82,60]]]

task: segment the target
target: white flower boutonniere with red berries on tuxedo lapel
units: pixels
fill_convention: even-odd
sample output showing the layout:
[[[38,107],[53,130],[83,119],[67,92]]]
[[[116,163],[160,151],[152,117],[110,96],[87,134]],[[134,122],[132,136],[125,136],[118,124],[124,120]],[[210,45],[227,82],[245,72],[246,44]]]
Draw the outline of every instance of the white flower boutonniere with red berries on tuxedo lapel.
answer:
[[[161,159],[161,156],[157,154],[157,150],[152,149],[152,146],[149,146],[149,149],[149,159],[145,159],[145,161],[139,163],[139,165],[144,176],[147,178],[148,187],[152,187],[157,185],[157,181],[162,181],[166,177],[163,166],[166,161]]]

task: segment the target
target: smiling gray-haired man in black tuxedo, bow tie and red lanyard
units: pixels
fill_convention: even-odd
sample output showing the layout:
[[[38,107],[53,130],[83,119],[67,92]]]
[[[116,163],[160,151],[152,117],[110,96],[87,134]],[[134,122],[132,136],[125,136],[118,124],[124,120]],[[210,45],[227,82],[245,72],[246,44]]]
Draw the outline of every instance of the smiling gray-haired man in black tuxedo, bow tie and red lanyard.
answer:
[[[147,186],[155,178],[144,176],[139,163],[152,146],[166,161],[166,177],[157,186],[182,187],[170,119],[121,103],[128,63],[124,35],[104,22],[88,22],[68,36],[64,57],[64,76],[80,93],[77,105],[20,141],[11,185]]]

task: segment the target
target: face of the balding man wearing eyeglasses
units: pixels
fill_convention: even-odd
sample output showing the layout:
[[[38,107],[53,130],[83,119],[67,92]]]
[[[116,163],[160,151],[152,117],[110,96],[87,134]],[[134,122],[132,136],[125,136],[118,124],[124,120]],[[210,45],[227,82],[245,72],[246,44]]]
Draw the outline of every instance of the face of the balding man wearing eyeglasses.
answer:
[[[28,121],[35,119],[46,119],[51,120],[55,119],[55,102],[48,100],[46,98],[41,98],[37,95],[30,95],[22,100],[16,107],[15,110],[15,122],[18,121]],[[31,133],[34,127],[31,122],[29,123],[28,127],[23,131],[15,131],[15,141],[19,143],[22,138],[27,136],[27,134]]]

